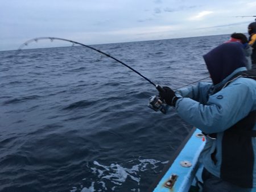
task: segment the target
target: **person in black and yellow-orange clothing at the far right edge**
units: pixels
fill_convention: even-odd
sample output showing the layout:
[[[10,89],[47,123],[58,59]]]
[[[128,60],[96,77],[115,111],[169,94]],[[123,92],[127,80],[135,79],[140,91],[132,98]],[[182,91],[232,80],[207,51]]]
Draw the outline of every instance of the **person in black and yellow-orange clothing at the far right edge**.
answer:
[[[252,68],[256,70],[256,22],[249,24],[248,33],[250,35],[249,45],[253,48],[253,53],[251,54]]]

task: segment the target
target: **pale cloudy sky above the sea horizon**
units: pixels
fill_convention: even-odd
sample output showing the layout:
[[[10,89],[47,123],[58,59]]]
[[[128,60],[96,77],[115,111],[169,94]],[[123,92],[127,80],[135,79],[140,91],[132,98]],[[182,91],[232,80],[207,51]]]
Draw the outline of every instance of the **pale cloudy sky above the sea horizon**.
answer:
[[[237,16],[250,15],[255,0],[0,0],[0,51],[47,36],[93,45],[247,32],[255,18]]]

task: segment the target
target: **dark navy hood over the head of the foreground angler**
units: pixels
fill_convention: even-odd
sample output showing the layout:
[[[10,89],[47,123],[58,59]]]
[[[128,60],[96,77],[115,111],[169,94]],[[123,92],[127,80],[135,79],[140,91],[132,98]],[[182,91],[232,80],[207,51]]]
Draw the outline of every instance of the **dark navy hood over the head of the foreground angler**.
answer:
[[[219,84],[234,70],[244,67],[246,64],[243,46],[237,42],[221,44],[203,57],[213,85]]]

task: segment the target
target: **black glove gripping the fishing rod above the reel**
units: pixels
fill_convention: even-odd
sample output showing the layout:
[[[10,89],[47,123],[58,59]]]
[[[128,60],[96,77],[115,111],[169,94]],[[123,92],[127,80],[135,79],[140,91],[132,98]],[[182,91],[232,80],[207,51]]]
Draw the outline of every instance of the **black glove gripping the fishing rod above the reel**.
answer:
[[[177,98],[174,91],[170,87],[162,87],[163,89],[158,89],[160,99],[162,99],[167,105],[176,105]]]

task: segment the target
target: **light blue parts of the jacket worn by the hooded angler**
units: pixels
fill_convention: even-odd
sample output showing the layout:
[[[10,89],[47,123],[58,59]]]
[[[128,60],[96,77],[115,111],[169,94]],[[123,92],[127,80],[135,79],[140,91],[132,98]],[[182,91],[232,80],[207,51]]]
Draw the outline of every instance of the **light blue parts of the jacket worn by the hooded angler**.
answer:
[[[201,153],[205,168],[216,177],[220,177],[221,142],[224,131],[245,118],[251,111],[256,110],[256,81],[250,78],[237,78],[217,93],[212,93],[217,87],[226,84],[234,74],[244,70],[246,70],[245,67],[234,70],[215,86],[200,82],[197,86],[176,91],[178,97],[183,97],[177,100],[175,106],[179,116],[203,132],[217,133],[217,140],[207,138],[207,143]],[[256,130],[256,125],[254,130]],[[256,138],[250,137],[250,139],[255,156]],[[210,157],[215,149],[217,149],[217,164],[214,164]],[[253,185],[256,187],[256,156],[254,165]]]

